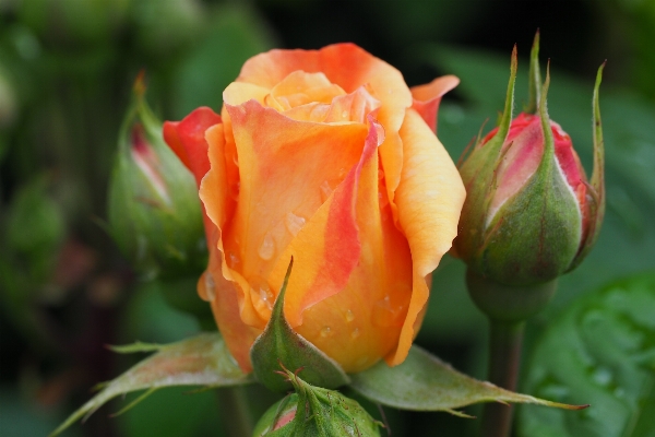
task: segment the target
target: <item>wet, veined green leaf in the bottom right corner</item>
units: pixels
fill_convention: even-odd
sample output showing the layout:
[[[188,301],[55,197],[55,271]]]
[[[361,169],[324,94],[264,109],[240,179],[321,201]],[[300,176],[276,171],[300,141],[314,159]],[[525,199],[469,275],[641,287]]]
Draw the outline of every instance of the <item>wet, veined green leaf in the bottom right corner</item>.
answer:
[[[579,415],[524,409],[523,436],[653,437],[655,272],[588,294],[552,320],[524,386],[592,406]]]

